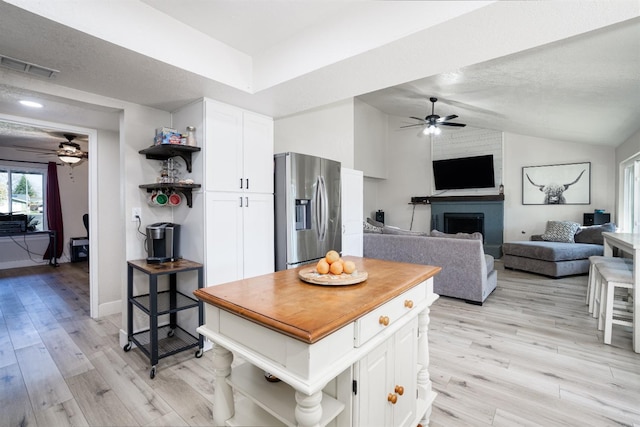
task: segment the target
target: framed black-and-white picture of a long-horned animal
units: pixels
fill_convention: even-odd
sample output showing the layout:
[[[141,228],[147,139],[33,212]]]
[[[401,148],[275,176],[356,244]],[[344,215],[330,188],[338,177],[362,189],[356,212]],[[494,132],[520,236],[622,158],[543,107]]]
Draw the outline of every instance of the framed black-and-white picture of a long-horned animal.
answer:
[[[522,168],[523,205],[588,205],[591,162]]]

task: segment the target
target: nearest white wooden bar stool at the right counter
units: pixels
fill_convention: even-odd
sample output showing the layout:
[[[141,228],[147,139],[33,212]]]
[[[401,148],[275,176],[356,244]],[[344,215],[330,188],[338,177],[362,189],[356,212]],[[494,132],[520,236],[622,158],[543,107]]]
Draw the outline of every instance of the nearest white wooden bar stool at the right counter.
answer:
[[[629,298],[633,289],[633,271],[624,268],[598,267],[600,285],[600,301],[598,304],[598,330],[604,330],[604,343],[611,344],[613,325],[633,327],[633,313],[629,300],[615,301],[616,288],[626,289],[625,296]]]

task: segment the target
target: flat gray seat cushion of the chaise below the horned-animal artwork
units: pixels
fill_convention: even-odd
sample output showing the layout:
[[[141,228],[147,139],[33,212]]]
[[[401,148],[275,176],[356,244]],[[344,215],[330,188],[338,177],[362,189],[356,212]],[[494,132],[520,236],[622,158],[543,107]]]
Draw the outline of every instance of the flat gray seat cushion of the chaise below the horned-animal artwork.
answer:
[[[504,243],[502,252],[506,255],[544,261],[569,261],[602,255],[602,246],[587,243],[524,241]]]

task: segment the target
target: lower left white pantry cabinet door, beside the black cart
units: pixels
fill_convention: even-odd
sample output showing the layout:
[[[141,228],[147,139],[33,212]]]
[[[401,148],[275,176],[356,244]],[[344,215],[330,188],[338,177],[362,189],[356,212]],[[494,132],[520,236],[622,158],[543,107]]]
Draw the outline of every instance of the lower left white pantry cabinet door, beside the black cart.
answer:
[[[243,277],[242,193],[205,192],[205,285]]]

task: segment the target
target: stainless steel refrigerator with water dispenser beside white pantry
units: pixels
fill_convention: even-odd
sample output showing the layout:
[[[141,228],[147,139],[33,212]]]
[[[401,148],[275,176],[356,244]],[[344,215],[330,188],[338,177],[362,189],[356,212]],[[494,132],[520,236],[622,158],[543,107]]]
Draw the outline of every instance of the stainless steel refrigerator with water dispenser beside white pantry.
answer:
[[[274,160],[276,271],[342,253],[340,162],[298,153]]]

